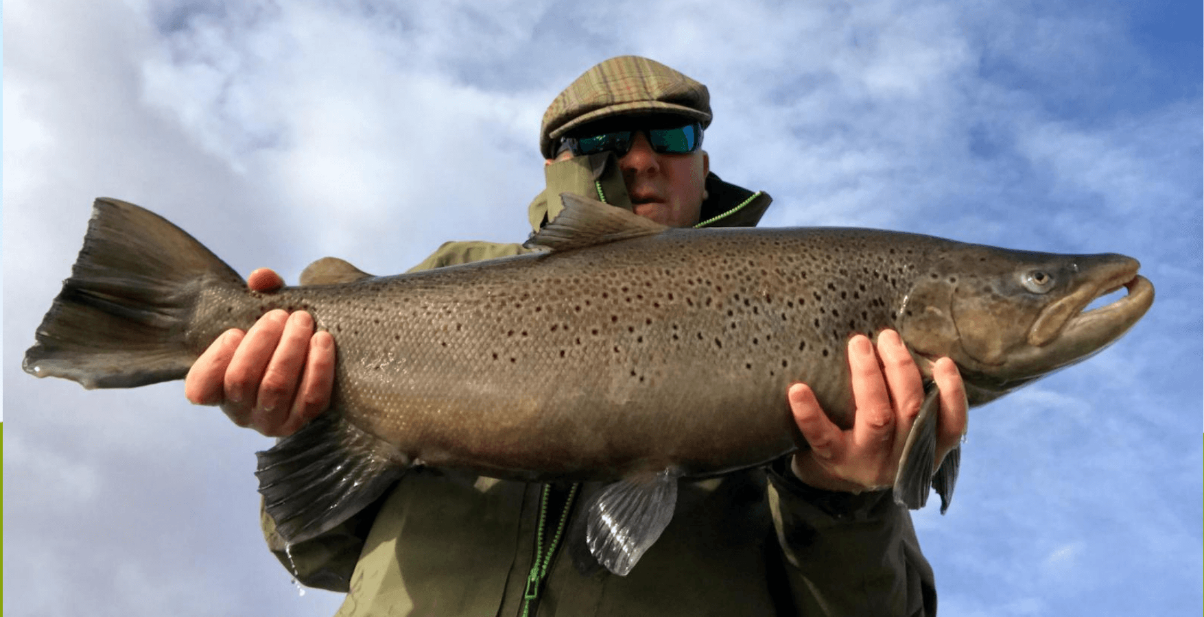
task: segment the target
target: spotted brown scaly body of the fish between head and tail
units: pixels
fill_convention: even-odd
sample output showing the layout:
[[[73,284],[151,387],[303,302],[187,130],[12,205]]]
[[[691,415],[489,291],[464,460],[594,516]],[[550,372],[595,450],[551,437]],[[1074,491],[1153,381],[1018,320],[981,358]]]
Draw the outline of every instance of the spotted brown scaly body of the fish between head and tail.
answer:
[[[864,233],[824,233],[820,251],[777,230],[671,231],[294,287],[260,296],[238,325],[311,310],[340,342],[335,408],[432,465],[598,479],[675,462],[709,474],[796,447],[780,396],[792,381],[849,423],[845,340],[892,325],[916,263],[879,256]]]

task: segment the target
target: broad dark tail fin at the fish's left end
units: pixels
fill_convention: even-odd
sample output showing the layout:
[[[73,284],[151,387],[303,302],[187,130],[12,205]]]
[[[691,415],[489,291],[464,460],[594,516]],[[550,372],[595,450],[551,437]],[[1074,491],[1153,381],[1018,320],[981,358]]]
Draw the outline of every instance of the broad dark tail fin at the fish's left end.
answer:
[[[238,273],[163,216],[98,198],[71,278],[22,368],[87,388],[182,379],[196,360],[188,320],[205,286]]]

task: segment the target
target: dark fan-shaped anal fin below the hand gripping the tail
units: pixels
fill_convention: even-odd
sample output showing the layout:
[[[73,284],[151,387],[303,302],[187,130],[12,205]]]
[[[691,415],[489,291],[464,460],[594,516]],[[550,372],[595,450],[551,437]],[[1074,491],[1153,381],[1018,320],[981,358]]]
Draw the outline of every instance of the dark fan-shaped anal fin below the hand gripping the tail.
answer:
[[[395,447],[330,411],[255,456],[264,508],[290,545],[366,508],[407,465]]]

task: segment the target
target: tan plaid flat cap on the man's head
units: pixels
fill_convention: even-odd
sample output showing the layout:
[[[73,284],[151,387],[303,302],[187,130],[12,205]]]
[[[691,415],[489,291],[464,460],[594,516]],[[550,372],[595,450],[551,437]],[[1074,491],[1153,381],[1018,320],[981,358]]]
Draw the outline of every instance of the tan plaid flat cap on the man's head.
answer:
[[[556,143],[585,123],[631,113],[674,113],[710,125],[707,87],[638,55],[603,60],[560,93],[543,114],[539,152],[556,154]]]

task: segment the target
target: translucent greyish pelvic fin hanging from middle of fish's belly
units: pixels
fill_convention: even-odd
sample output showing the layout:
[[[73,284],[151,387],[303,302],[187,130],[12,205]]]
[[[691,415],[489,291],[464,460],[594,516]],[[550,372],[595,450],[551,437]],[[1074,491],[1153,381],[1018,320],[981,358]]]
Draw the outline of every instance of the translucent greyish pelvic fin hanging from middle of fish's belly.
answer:
[[[590,553],[614,574],[625,576],[669,524],[677,505],[680,471],[666,469],[625,479],[602,490],[585,511]]]

